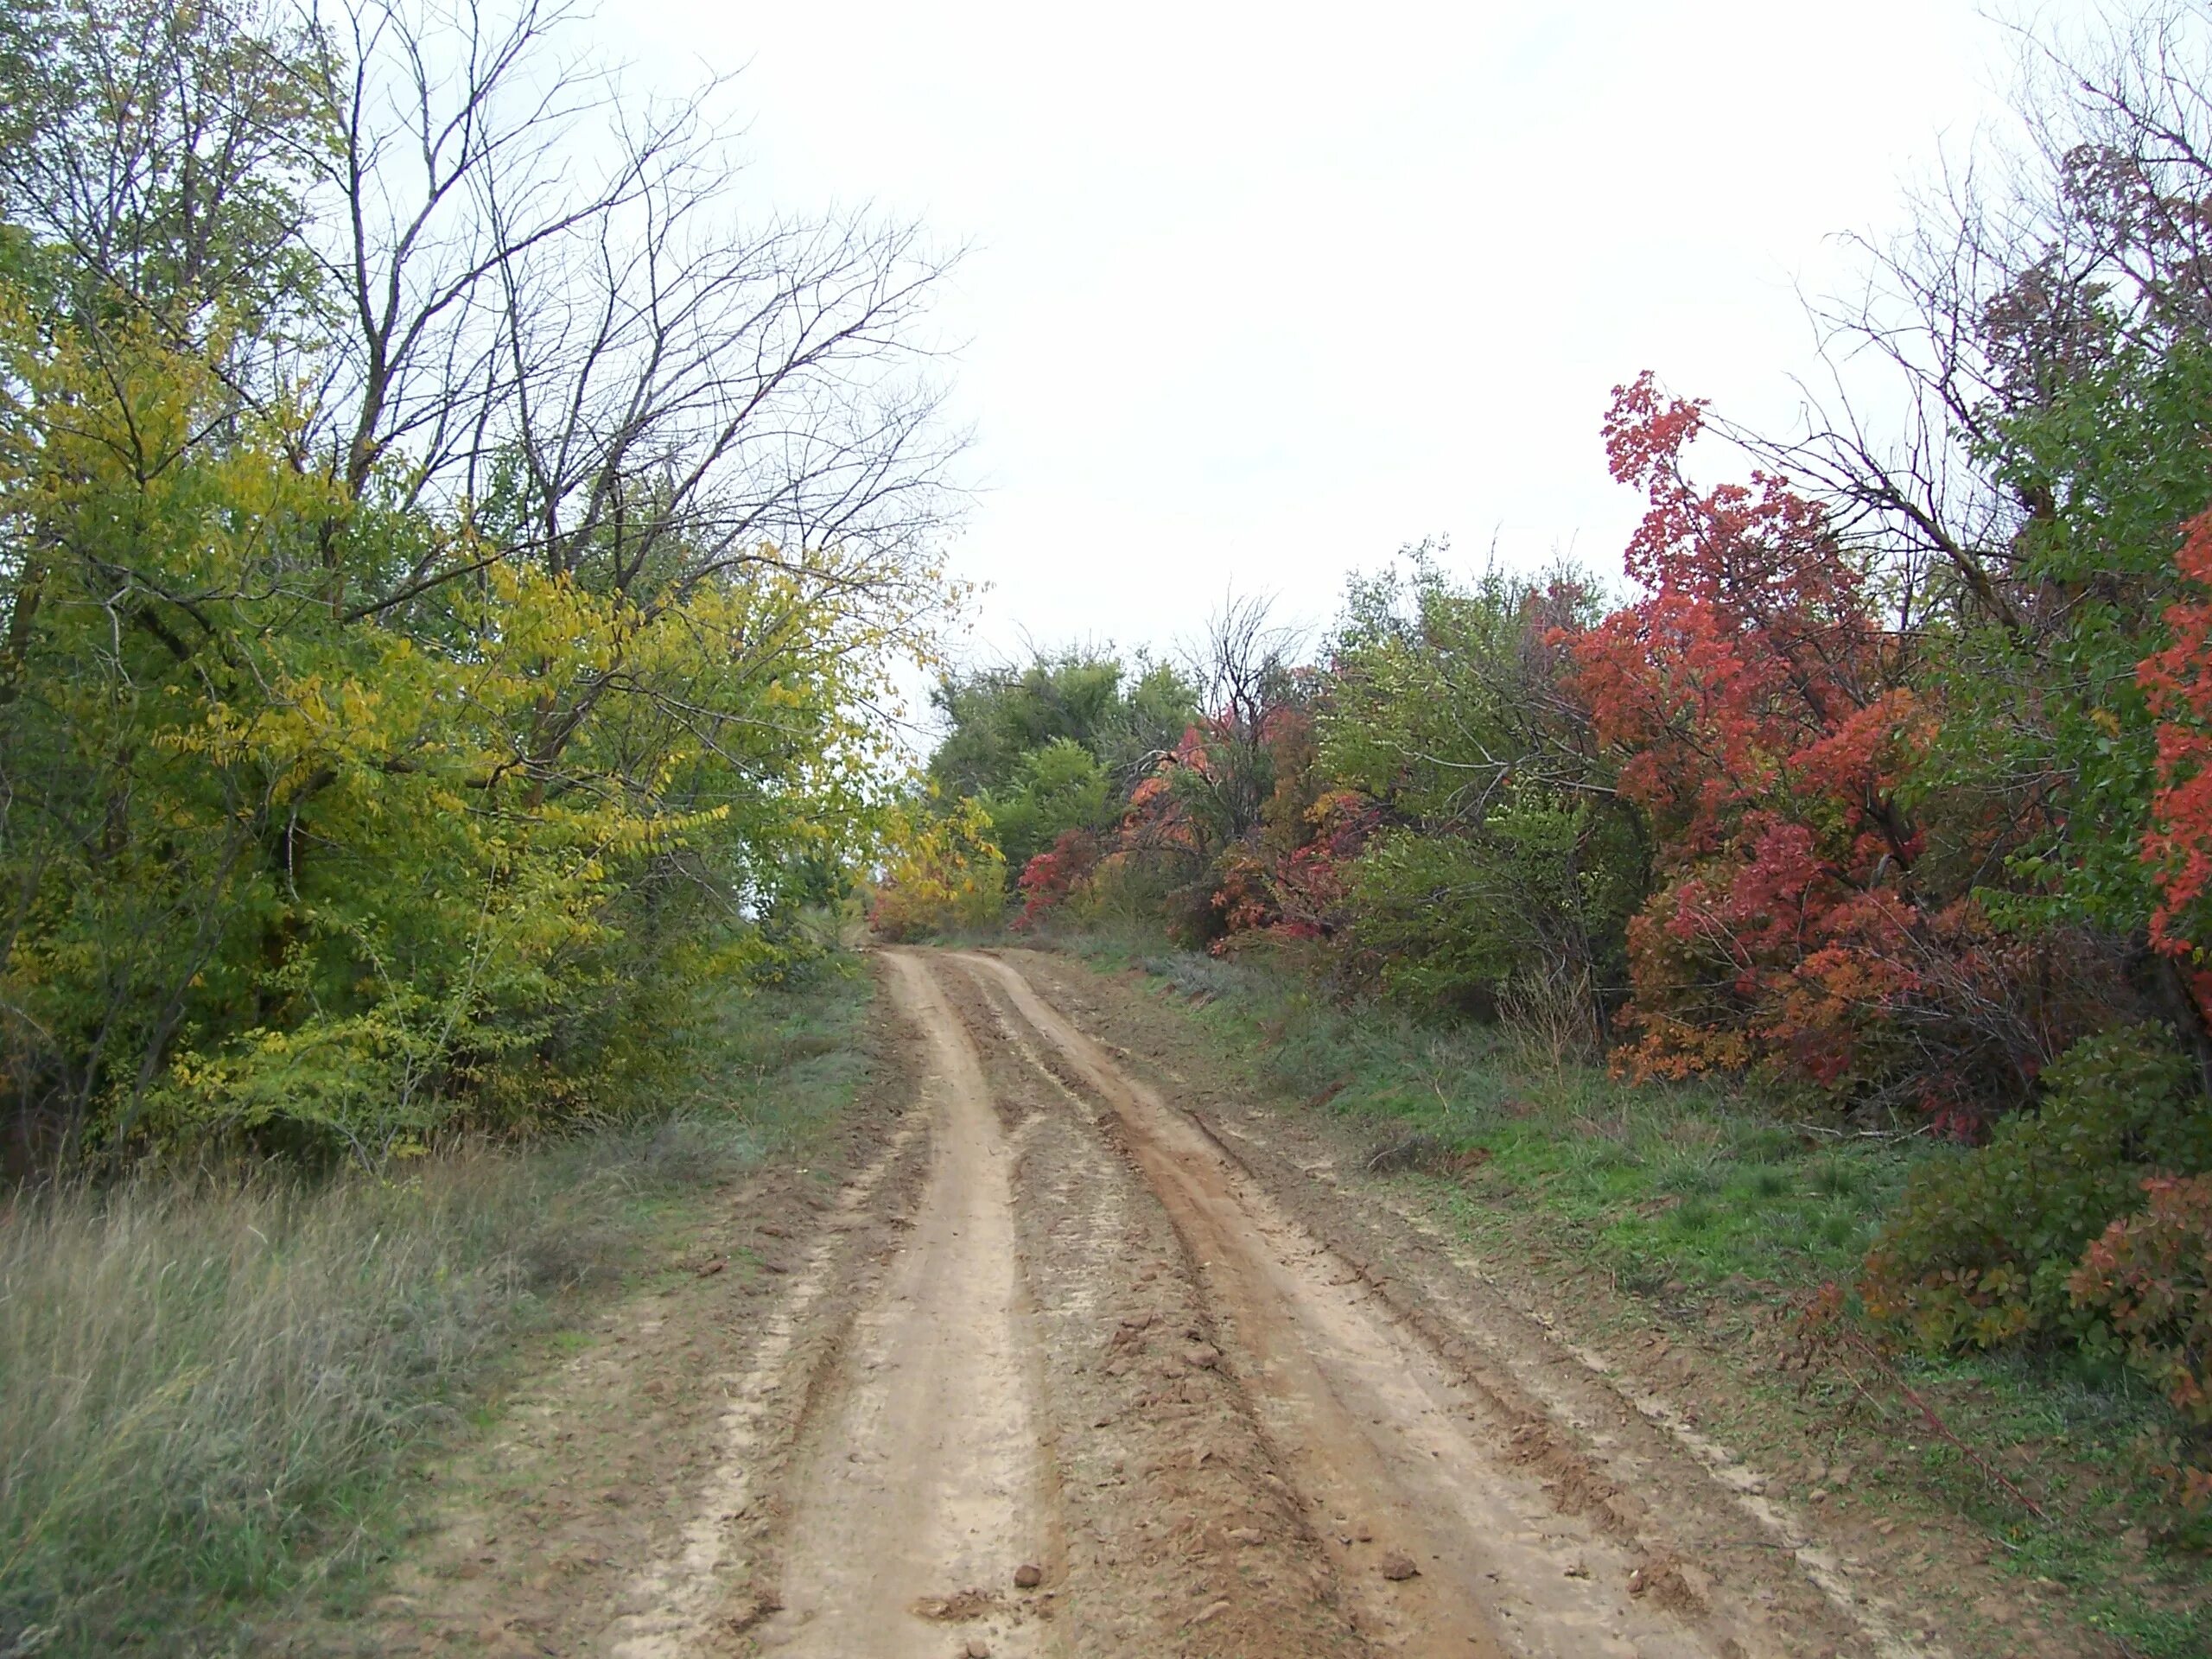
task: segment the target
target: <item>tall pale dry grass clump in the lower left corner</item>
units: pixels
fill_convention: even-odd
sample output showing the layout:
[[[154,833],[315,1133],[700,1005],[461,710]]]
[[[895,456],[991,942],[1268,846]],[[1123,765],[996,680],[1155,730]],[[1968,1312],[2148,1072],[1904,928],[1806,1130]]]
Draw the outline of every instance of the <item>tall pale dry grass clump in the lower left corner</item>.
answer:
[[[157,1639],[343,1531],[524,1312],[515,1186],[469,1159],[9,1199],[0,1652]]]

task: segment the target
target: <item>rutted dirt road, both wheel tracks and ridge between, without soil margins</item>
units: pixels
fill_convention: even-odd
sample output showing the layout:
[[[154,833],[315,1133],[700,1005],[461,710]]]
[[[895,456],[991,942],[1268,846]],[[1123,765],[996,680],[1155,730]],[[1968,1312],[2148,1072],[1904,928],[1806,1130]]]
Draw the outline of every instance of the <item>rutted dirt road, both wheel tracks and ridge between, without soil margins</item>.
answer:
[[[1650,1504],[1577,1504],[1524,1411],[1018,967],[889,967],[929,1168],[810,1411],[759,1650],[1893,1646],[1816,1595],[1798,1628],[1732,1606]]]

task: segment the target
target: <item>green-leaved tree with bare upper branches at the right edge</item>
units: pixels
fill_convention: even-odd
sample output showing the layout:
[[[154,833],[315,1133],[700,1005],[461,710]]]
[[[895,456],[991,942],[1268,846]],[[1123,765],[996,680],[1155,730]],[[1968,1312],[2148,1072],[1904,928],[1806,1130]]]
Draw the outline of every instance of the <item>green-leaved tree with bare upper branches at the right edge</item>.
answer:
[[[1827,502],[1931,655],[1920,880],[1973,891],[2017,978],[2064,987],[2006,991],[2059,1004],[2053,1031],[2157,1013],[2212,1088],[2201,987],[2152,938],[2172,847],[2150,695],[2177,681],[2148,668],[2188,602],[2183,526],[2212,502],[2212,33],[2201,7],[2159,4],[2022,49],[2024,144],[1869,248],[1867,294],[1823,314],[1834,378],[1809,431],[1736,436]],[[1905,394],[1893,434],[1863,414],[1869,363],[1885,400]]]

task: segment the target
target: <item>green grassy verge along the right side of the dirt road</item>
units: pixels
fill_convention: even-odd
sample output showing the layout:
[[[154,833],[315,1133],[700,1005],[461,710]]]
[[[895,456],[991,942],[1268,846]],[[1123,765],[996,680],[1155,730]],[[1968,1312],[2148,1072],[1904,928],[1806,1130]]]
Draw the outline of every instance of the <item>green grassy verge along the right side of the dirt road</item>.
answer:
[[[1849,1462],[1851,1491],[1836,1502],[1867,1517],[1971,1522],[2024,1588],[2057,1586],[2068,1617],[2108,1632],[2115,1652],[2212,1652],[2212,1562],[2170,1533],[2150,1471],[2172,1416],[2126,1371],[2075,1356],[1902,1358],[1893,1378],[1781,1369],[1794,1305],[1851,1279],[1907,1175],[1953,1148],[1794,1124],[1723,1086],[1630,1086],[1513,1033],[1343,1009],[1265,962],[1040,942],[1141,967],[1254,1091],[1347,1119],[1378,1168],[1431,1181],[1491,1259],[1608,1279],[1624,1312],[1595,1336],[1694,1332],[1739,1378],[1705,1420],[1754,1460]],[[1931,1433],[1898,1383],[1971,1455]],[[1823,1482],[1792,1484],[1805,1498]]]

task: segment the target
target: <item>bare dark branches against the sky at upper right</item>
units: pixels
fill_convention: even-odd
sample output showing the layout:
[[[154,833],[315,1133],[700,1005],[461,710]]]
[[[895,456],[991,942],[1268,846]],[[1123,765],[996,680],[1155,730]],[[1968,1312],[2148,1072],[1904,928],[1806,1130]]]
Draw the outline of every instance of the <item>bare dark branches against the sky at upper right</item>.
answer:
[[[2212,325],[2212,7],[2015,38],[2017,142],[1947,170],[1900,237],[1858,239],[1865,288],[1809,307],[1825,369],[1805,429],[1721,431],[1838,509],[1900,633],[1949,611],[2033,650],[2070,599],[2020,580],[2053,484],[2000,482],[1989,456],[2008,416],[2115,352]]]

